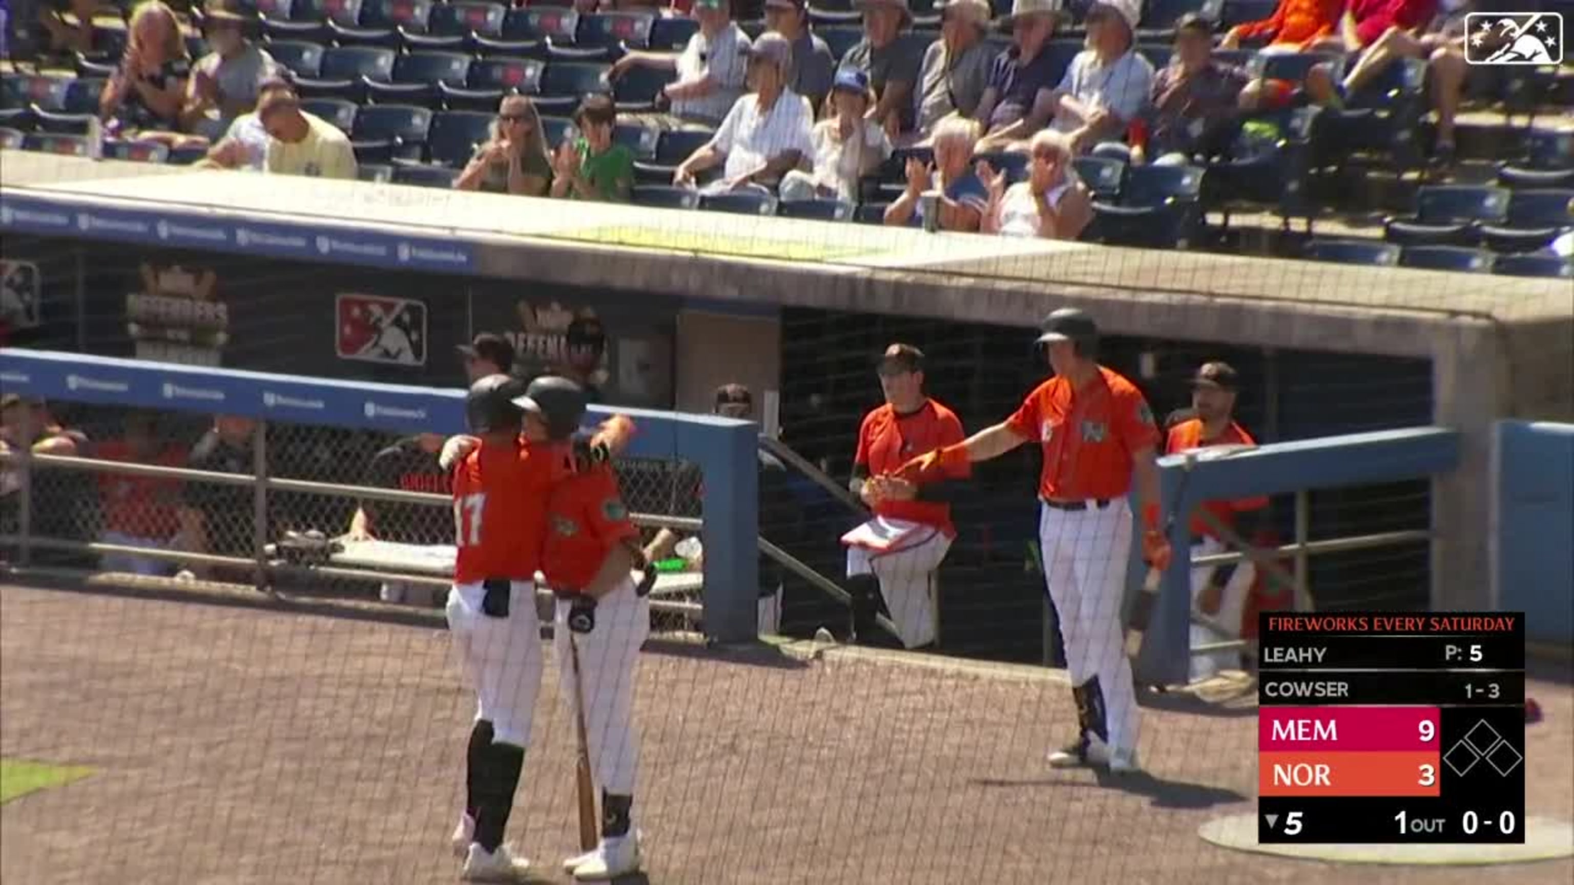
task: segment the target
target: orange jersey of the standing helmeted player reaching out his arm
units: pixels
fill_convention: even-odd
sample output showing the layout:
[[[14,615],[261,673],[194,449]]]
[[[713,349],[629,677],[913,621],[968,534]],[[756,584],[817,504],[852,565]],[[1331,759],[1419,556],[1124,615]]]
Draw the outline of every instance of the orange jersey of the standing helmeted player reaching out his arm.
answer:
[[[1059,376],[1039,384],[1006,427],[1044,447],[1039,496],[1058,501],[1125,498],[1133,455],[1158,444],[1143,392],[1102,365],[1080,391]]]

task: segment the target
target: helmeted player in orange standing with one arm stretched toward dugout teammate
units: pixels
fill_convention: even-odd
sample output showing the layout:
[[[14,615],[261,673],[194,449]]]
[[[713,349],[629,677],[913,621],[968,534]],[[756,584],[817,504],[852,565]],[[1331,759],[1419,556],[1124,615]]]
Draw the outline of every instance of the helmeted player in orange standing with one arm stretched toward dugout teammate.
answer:
[[[1121,624],[1132,539],[1127,493],[1135,480],[1146,528],[1143,553],[1162,570],[1169,545],[1158,526],[1158,428],[1143,394],[1099,365],[1092,318],[1061,309],[1039,331],[1037,346],[1055,376],[1001,424],[914,458],[902,472],[985,461],[1029,441],[1044,449],[1044,580],[1059,616],[1078,723],[1077,740],[1053,751],[1050,764],[1136,772],[1136,693]]]

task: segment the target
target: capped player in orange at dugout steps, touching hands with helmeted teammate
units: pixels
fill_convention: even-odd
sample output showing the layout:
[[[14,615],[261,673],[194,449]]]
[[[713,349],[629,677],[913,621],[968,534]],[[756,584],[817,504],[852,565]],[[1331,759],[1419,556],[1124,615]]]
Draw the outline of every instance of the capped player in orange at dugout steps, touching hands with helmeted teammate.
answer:
[[[960,442],[955,413],[924,395],[924,354],[891,345],[878,362],[883,406],[864,416],[848,488],[875,517],[842,535],[847,587],[853,597],[853,633],[866,636],[885,597],[903,647],[929,646],[937,636],[935,570],[957,537],[951,493],[971,471],[965,461],[896,476],[913,455]]]

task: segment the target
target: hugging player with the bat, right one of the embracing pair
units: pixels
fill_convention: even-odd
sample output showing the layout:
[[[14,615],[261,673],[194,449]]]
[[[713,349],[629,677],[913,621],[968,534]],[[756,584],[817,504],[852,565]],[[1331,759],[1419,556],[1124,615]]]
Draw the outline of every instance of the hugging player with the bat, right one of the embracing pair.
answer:
[[[537,378],[524,398],[526,424],[540,424],[554,442],[570,439],[586,409],[586,392],[567,378]],[[552,646],[562,698],[584,717],[593,783],[601,786],[601,839],[563,861],[579,882],[600,882],[639,869],[633,830],[634,665],[650,635],[648,587],[634,586],[642,564],[639,529],[617,477],[606,463],[587,465],[552,488],[541,572],[557,595]],[[655,572],[648,572],[650,578]]]

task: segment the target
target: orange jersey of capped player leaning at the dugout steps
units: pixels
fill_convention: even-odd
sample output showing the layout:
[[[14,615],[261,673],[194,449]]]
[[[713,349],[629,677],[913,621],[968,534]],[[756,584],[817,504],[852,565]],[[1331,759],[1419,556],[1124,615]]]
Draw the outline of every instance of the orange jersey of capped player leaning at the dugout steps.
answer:
[[[965,439],[962,420],[935,400],[924,400],[924,405],[911,414],[897,414],[891,403],[886,403],[864,416],[864,424],[858,428],[853,465],[864,466],[869,476],[892,474],[911,458],[943,446],[954,446],[962,439]],[[960,465],[948,474],[919,476],[913,482],[922,485],[926,480],[965,479],[968,472],[968,465]],[[957,534],[951,524],[951,504],[943,501],[881,501],[875,505],[875,515],[935,526],[949,537]]]

